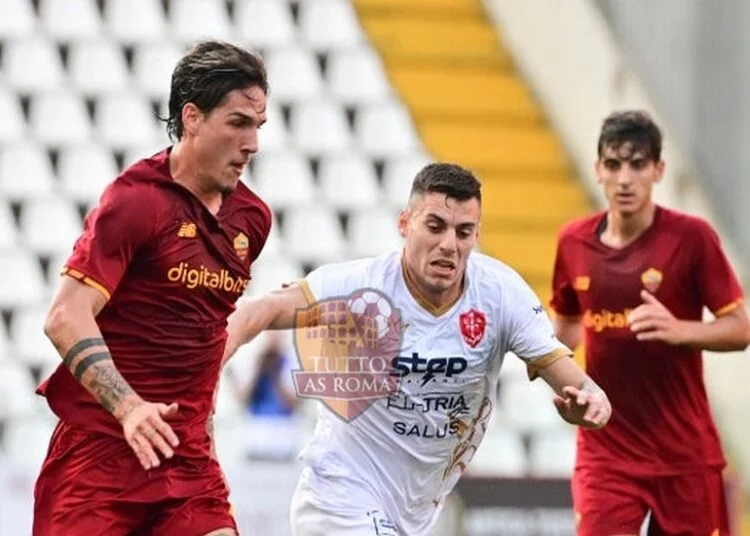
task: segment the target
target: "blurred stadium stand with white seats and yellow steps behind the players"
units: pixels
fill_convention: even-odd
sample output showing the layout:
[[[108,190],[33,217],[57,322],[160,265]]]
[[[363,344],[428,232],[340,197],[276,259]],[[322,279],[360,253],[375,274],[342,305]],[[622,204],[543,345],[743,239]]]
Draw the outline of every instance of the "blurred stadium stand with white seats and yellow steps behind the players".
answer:
[[[268,124],[243,180],[275,225],[248,292],[397,246],[414,172],[451,160],[483,181],[481,249],[546,302],[556,231],[601,206],[596,136],[623,107],[665,127],[658,200],[716,225],[750,288],[749,18],[739,2],[680,0],[2,0],[0,535],[30,531],[54,426],[34,388],[59,362],[42,333],[58,270],[104,185],[168,143],[154,112],[190,43],[223,38],[267,62]],[[738,511],[747,357],[706,359]],[[248,459],[248,441],[275,432],[253,427],[227,383],[217,436],[238,519],[245,534],[286,535],[298,468]],[[573,430],[513,358],[499,400],[435,534],[572,534]],[[302,436],[316,409],[304,406]]]

